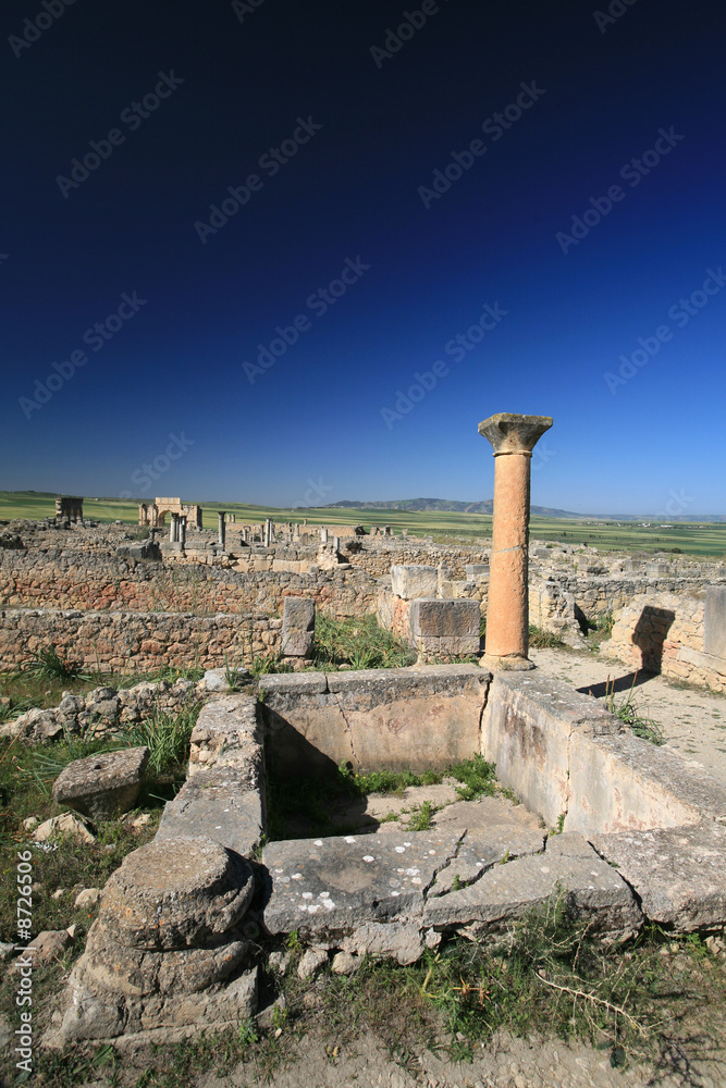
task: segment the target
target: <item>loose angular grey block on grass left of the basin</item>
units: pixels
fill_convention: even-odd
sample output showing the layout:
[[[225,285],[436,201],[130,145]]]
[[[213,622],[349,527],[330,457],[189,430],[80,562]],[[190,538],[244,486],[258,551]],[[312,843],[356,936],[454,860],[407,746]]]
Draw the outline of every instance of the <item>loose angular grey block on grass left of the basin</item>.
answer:
[[[91,819],[113,819],[135,806],[148,762],[147,747],[74,759],[56,779],[53,800]]]

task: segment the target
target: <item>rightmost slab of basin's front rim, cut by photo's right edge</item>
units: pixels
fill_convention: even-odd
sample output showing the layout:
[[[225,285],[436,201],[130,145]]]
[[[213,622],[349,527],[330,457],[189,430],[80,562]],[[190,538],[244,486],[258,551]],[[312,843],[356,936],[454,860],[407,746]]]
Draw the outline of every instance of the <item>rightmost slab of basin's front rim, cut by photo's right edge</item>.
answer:
[[[726,827],[595,834],[592,843],[635,889],[653,922],[689,931],[726,923]]]

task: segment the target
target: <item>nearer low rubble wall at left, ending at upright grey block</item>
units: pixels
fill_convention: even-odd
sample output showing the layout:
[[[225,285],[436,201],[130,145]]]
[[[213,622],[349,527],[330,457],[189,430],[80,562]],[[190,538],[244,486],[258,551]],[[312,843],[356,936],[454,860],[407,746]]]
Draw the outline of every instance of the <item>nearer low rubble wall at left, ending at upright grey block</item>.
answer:
[[[249,662],[251,654],[280,651],[282,620],[239,614],[4,609],[0,613],[0,668],[11,669],[32,653],[56,645],[62,657],[89,669],[152,671],[220,668]]]

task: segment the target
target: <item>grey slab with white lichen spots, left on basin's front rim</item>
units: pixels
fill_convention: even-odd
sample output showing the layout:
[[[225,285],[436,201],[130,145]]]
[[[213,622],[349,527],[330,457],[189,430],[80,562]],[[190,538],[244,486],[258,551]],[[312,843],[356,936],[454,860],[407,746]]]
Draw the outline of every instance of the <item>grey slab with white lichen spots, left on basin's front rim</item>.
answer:
[[[424,894],[455,855],[460,834],[347,834],[273,842],[264,924],[272,934],[352,932],[361,924],[420,917]]]

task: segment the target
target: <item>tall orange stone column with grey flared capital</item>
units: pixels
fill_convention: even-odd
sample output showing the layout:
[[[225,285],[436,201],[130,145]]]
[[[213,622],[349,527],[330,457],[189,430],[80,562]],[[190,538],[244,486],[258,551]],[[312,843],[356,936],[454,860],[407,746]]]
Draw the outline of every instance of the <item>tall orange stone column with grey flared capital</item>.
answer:
[[[479,424],[494,448],[494,518],[487,605],[487,659],[528,667],[529,492],[532,449],[550,416],[500,412]]]

